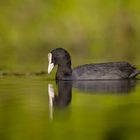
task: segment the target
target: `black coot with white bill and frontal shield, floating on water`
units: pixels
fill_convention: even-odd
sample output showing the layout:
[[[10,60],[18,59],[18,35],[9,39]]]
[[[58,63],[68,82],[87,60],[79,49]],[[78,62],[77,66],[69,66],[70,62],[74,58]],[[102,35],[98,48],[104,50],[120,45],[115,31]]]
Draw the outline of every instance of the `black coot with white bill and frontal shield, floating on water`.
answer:
[[[140,73],[128,62],[85,64],[72,70],[70,54],[63,48],[52,50],[48,60],[48,73],[58,65],[56,80],[132,79]]]

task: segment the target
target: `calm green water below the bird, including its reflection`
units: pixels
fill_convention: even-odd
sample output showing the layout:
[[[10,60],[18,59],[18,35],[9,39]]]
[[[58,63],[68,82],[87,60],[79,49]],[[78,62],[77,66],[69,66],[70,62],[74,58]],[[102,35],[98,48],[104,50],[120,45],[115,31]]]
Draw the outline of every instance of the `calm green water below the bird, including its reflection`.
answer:
[[[140,81],[0,78],[1,140],[140,140]]]

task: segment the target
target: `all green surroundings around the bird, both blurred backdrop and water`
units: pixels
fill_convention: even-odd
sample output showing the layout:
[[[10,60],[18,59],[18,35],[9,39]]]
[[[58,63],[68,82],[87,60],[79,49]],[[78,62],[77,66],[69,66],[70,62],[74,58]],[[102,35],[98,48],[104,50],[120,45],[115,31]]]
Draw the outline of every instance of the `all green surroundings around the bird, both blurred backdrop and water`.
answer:
[[[129,61],[140,68],[139,0],[1,0],[0,72],[47,70],[48,53],[67,49],[73,67]],[[73,89],[49,117],[47,76],[0,76],[2,140],[139,140],[140,82],[128,94]],[[122,87],[126,88],[126,87]]]

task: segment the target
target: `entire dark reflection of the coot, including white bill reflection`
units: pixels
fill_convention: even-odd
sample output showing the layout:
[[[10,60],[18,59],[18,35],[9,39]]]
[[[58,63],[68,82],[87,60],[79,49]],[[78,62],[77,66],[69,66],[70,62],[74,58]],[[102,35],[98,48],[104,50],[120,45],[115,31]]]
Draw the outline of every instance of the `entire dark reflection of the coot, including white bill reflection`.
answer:
[[[50,118],[53,118],[53,108],[64,109],[72,100],[72,88],[86,94],[117,94],[124,95],[133,91],[136,80],[97,80],[97,81],[57,81],[58,91],[48,84]]]

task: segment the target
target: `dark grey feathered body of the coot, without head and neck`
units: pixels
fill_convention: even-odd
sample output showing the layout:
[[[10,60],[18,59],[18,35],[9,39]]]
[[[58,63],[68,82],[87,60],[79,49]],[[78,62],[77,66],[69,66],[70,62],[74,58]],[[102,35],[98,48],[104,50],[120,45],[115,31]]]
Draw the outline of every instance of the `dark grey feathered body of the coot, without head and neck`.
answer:
[[[86,64],[73,69],[72,77],[76,80],[94,79],[129,79],[139,72],[127,62],[109,62]]]

